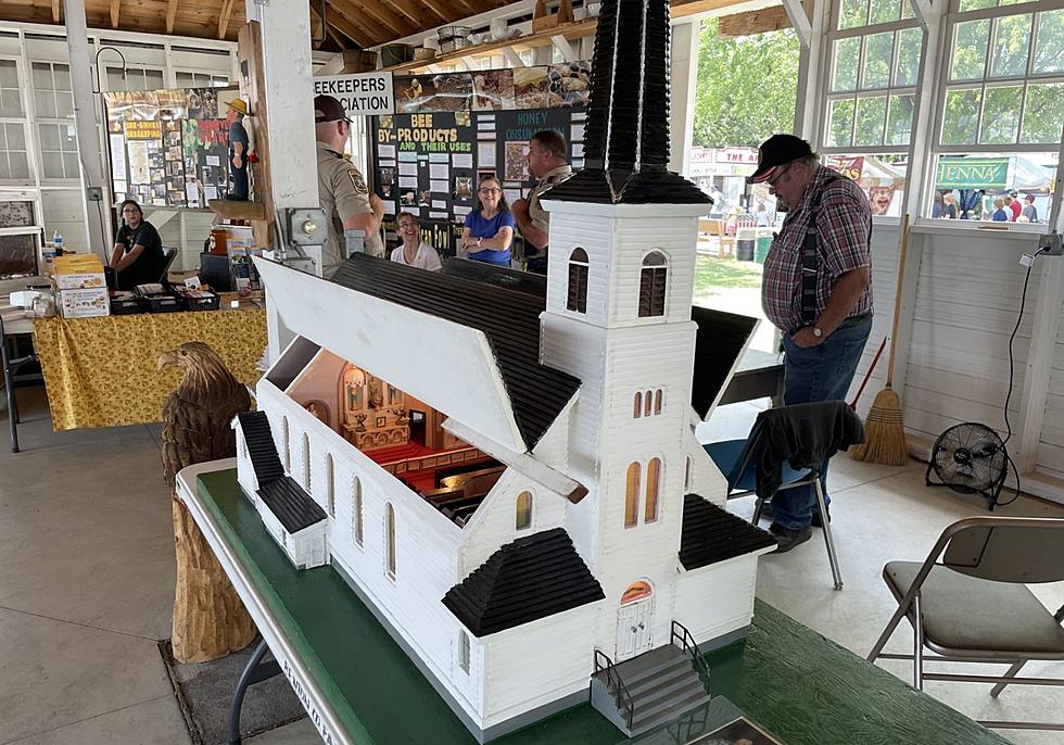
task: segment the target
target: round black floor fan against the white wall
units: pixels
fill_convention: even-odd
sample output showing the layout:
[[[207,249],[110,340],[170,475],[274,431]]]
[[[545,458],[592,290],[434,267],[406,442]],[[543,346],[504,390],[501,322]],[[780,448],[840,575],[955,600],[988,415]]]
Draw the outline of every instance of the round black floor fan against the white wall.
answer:
[[[961,494],[979,494],[993,509],[1009,476],[1012,459],[998,433],[986,425],[966,421],[938,435],[932,447],[924,481]],[[932,480],[932,472],[938,481]]]

